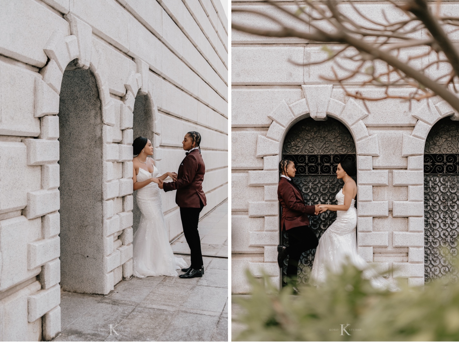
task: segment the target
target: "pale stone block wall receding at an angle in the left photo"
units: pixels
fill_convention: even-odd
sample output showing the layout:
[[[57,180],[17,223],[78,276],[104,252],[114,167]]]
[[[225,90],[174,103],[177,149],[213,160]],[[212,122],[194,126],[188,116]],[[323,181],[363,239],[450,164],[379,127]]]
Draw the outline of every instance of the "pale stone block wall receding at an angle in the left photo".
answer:
[[[166,172],[199,131],[202,214],[228,197],[228,22],[215,0],[0,8],[0,340],[50,340],[61,286],[107,294],[132,276],[136,136]]]

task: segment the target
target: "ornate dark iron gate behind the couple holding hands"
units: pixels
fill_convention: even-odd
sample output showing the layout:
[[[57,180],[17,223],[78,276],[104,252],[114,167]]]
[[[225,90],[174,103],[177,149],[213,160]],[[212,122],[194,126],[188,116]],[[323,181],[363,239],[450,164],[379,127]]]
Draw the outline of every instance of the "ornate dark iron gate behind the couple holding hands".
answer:
[[[301,189],[307,205],[336,204],[335,196],[342,186],[341,179],[336,179],[336,166],[343,159],[355,161],[355,144],[350,132],[339,121],[332,118],[327,121],[307,118],[295,124],[288,132],[282,157],[295,162],[297,175],[293,181]],[[330,211],[309,217],[310,226],[318,238],[335,219],[336,212]],[[285,232],[281,234],[280,240],[281,244],[288,246]],[[301,256],[298,272],[298,281],[301,283],[308,282],[314,254],[315,249]],[[282,268],[283,285],[287,262],[285,259]]]

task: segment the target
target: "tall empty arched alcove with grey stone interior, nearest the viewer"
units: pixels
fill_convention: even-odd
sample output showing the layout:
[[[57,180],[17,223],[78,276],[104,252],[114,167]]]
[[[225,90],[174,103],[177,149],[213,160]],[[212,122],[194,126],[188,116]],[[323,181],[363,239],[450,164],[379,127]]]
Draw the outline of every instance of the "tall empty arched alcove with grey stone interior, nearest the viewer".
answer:
[[[74,62],[59,102],[61,285],[103,293],[101,101],[93,73]]]

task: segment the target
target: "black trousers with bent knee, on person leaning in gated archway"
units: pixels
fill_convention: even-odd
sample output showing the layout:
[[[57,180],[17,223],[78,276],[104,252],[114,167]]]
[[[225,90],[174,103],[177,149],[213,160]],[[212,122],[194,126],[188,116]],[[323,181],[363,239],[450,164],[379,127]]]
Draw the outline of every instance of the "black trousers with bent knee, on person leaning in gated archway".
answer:
[[[287,254],[289,255],[287,277],[296,281],[301,254],[317,247],[319,240],[307,225],[287,230],[287,236],[289,243],[287,247]]]

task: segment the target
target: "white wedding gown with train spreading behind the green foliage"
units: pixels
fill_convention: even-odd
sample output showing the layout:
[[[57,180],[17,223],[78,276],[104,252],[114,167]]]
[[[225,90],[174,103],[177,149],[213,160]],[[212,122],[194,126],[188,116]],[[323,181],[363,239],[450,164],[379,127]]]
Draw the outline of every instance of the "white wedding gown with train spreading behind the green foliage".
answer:
[[[344,204],[342,189],[336,194],[336,200],[338,205]],[[339,273],[341,266],[348,258],[353,265],[364,271],[363,277],[369,279],[373,287],[396,289],[357,253],[357,210],[354,203],[355,200],[353,199],[347,211],[338,210],[335,222],[320,237],[309,282],[313,285],[324,284],[327,270]]]

